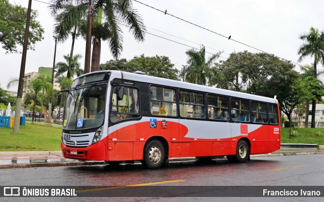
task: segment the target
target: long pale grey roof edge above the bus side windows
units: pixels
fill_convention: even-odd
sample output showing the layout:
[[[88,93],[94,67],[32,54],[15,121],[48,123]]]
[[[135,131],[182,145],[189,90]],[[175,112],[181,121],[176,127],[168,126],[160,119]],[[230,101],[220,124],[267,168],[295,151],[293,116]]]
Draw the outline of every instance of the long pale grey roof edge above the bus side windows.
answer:
[[[275,98],[264,97],[264,96],[254,95],[254,94],[248,94],[248,93],[244,93],[244,92],[236,92],[236,91],[232,91],[232,90],[225,90],[225,89],[216,88],[216,87],[203,86],[203,85],[187,83],[187,82],[183,82],[183,81],[176,81],[176,80],[172,80],[172,79],[165,79],[165,78],[159,78],[159,77],[130,73],[130,72],[122,72],[122,71],[117,71],[117,70],[105,70],[102,72],[111,72],[111,78],[120,78],[121,79],[121,75],[123,74],[123,77],[126,80],[134,80],[134,81],[140,81],[140,82],[145,82],[145,83],[150,83],[150,84],[157,84],[157,85],[185,88],[185,89],[196,90],[196,91],[210,92],[210,93],[227,95],[227,96],[232,96],[232,97],[259,100],[261,102],[267,102],[267,103],[277,103],[277,100]]]

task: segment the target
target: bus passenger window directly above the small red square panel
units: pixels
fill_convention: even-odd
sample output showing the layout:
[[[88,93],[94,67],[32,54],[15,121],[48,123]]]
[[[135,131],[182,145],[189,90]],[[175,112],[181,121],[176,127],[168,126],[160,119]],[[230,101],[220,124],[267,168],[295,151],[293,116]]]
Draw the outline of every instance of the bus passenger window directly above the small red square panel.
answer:
[[[249,100],[231,98],[232,121],[250,122]]]

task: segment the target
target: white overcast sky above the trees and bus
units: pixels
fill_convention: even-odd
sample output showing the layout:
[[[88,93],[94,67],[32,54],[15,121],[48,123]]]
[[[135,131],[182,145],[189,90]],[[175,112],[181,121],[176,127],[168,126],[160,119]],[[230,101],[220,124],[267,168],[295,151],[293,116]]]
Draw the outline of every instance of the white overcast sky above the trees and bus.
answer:
[[[49,3],[49,0],[39,0]],[[193,0],[139,0],[159,10],[168,10],[169,14],[205,27],[222,34],[231,35],[231,39],[246,43],[267,53],[298,63],[298,47],[302,41],[298,36],[309,31],[311,26],[324,30],[324,1],[193,1]],[[11,4],[20,4],[28,7],[28,0],[9,0]],[[258,53],[256,49],[242,45],[215,33],[193,26],[178,20],[170,15],[158,12],[152,8],[134,2],[133,7],[143,18],[147,31],[179,43],[199,48],[204,44],[206,51],[216,53],[224,51],[221,55],[228,58],[228,54],[248,50]],[[54,20],[50,15],[48,4],[32,1],[32,9],[38,11],[37,20],[45,29],[44,40],[37,42],[35,51],[27,51],[25,73],[37,72],[38,67],[52,67],[55,41],[53,39]],[[153,30],[155,29],[155,30]],[[159,30],[159,31],[156,31]],[[165,33],[162,33],[165,32]],[[168,35],[170,34],[170,35]],[[171,36],[174,35],[174,36]],[[124,51],[120,58],[132,59],[134,56],[167,56],[175,67],[181,69],[186,65],[185,51],[190,47],[166,39],[146,34],[144,42],[137,42],[124,28]],[[176,37],[175,37],[176,36]],[[179,38],[177,38],[179,37]],[[182,39],[180,39],[182,38]],[[186,40],[183,40],[186,39]],[[108,43],[101,42],[101,60],[105,63],[112,58]],[[79,61],[84,67],[86,41],[79,37],[75,41],[74,53],[81,54]],[[63,55],[70,52],[71,39],[57,45],[56,62],[65,62]],[[20,51],[22,47],[20,47]],[[217,50],[217,51],[216,51]],[[7,82],[11,77],[19,77],[21,54],[5,54],[0,47],[1,73],[0,85],[7,89]],[[210,56],[210,54],[207,54]],[[223,58],[220,58],[224,60]],[[301,65],[310,64],[313,58],[307,58]],[[319,65],[318,69],[322,69]],[[18,86],[8,90],[17,91]]]

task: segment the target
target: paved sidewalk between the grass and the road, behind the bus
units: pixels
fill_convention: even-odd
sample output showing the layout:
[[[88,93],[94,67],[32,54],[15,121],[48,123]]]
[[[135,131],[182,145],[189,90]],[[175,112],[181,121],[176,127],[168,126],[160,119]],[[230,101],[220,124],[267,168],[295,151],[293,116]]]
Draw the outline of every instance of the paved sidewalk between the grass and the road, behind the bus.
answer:
[[[324,154],[324,145],[318,148],[316,144],[281,144],[281,148],[274,153],[251,155],[255,157],[288,156]],[[196,160],[194,157],[171,158],[169,161]],[[104,165],[104,161],[79,161],[65,159],[61,151],[1,151],[0,169],[32,168],[32,167],[57,167],[57,166],[91,166]]]

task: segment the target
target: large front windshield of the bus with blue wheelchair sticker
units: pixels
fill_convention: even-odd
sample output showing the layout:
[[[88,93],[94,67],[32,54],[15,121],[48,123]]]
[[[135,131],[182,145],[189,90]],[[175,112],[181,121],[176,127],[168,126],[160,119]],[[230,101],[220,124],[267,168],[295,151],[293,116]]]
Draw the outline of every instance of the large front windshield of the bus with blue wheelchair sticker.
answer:
[[[63,128],[67,130],[98,128],[103,125],[107,84],[70,90],[67,94]]]

